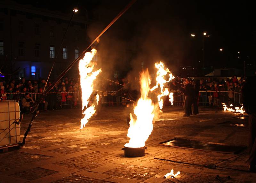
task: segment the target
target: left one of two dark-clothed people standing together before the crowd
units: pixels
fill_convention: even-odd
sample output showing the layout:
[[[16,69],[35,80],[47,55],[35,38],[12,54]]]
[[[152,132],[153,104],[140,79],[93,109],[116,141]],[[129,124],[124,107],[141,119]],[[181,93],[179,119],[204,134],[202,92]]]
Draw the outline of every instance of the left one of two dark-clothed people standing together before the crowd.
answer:
[[[188,79],[186,79],[185,83],[186,83],[185,91],[184,91],[185,100],[183,104],[185,114],[183,116],[189,116],[189,114],[192,114],[191,105],[192,105],[193,86],[189,83]]]

